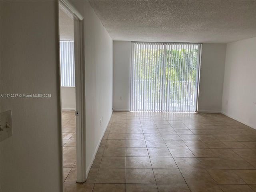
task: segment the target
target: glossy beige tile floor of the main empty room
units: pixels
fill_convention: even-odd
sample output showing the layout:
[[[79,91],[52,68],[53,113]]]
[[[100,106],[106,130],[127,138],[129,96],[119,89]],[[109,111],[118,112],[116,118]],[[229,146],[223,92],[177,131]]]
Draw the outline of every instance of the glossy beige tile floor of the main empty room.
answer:
[[[113,112],[86,183],[64,191],[255,192],[256,130],[222,114]]]

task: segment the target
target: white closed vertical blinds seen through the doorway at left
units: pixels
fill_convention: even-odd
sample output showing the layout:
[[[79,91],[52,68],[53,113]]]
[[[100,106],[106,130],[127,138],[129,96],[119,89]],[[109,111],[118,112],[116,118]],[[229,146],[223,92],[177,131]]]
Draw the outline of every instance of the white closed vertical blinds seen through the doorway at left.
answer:
[[[74,41],[60,41],[61,86],[75,86]]]

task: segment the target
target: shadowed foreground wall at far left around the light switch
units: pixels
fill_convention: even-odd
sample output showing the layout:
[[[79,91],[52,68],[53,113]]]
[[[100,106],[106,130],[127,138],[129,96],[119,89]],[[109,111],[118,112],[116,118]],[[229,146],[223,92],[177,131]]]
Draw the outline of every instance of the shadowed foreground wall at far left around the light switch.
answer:
[[[1,142],[1,192],[62,192],[57,1],[0,1],[1,98],[13,135]]]

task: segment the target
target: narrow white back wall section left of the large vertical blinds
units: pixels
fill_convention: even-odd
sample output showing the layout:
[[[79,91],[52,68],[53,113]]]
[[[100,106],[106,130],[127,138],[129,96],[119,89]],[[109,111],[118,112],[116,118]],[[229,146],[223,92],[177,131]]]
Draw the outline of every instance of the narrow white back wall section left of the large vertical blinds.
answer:
[[[113,107],[115,111],[130,111],[131,51],[130,41],[114,41]]]

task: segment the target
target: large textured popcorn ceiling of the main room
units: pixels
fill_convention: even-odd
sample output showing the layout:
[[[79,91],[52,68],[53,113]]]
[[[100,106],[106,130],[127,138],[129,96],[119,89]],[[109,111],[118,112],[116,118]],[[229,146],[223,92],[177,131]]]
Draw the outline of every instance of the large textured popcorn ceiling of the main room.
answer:
[[[256,1],[89,2],[113,40],[227,43],[256,37]]]

